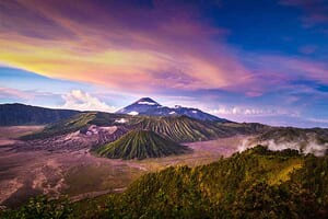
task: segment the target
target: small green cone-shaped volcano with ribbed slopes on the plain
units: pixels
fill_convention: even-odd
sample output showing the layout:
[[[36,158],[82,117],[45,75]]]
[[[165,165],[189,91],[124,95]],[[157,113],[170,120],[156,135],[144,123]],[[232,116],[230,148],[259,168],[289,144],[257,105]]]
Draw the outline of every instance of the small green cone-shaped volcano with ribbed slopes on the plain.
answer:
[[[185,146],[165,139],[151,130],[132,130],[118,140],[96,150],[102,157],[114,159],[161,158],[187,152]]]

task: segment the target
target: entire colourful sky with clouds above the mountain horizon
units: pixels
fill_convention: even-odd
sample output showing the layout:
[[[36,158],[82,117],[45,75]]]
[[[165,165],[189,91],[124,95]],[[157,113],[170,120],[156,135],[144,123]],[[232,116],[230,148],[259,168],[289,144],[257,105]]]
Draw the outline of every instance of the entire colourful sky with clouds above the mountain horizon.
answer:
[[[328,1],[0,1],[0,103],[115,112],[143,96],[328,127]]]

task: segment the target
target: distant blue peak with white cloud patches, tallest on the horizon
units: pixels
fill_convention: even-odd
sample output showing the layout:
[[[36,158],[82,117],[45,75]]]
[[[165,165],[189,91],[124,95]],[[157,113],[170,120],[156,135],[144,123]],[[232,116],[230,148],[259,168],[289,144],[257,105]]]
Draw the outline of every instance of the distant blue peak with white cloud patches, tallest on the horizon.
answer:
[[[120,114],[129,114],[129,115],[150,115],[150,116],[177,116],[185,115],[191,118],[200,119],[200,120],[212,120],[225,123],[229,122],[224,118],[219,118],[211,114],[204,113],[198,108],[188,108],[176,105],[175,107],[162,106],[157,102],[153,101],[150,97],[142,97],[139,101],[128,105],[117,113]]]

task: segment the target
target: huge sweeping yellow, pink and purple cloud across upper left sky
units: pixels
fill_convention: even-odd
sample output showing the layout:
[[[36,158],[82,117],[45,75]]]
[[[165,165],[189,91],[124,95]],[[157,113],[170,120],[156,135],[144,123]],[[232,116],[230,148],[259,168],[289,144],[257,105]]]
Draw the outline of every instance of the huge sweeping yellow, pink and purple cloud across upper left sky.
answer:
[[[218,89],[249,78],[224,43],[227,32],[197,21],[192,4],[66,1],[63,9],[35,0],[0,9],[10,26],[1,30],[0,59],[45,76],[133,91]]]

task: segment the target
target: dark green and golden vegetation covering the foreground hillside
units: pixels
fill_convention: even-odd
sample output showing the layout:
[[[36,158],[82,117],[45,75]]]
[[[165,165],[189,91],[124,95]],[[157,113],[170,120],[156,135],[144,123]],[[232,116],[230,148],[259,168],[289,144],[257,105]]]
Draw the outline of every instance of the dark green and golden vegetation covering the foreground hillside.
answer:
[[[2,217],[327,218],[328,157],[258,146],[208,165],[147,174],[122,194],[43,205],[49,204],[35,201]]]

